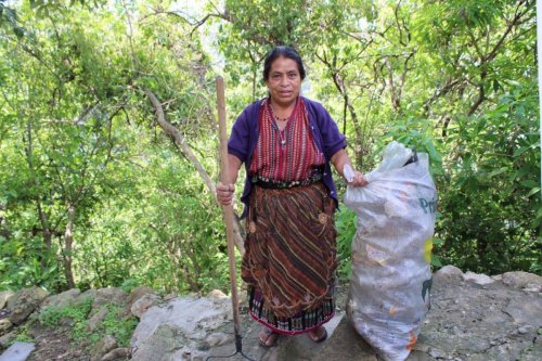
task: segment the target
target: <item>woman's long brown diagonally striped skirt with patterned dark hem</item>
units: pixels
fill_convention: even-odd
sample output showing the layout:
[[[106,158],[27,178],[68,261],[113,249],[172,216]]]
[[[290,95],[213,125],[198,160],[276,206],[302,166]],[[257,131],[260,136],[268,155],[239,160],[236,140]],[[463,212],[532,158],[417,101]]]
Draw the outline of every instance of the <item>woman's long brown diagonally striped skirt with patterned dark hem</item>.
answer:
[[[253,188],[242,278],[249,314],[295,335],[334,314],[337,267],[335,203],[321,182],[291,189]]]

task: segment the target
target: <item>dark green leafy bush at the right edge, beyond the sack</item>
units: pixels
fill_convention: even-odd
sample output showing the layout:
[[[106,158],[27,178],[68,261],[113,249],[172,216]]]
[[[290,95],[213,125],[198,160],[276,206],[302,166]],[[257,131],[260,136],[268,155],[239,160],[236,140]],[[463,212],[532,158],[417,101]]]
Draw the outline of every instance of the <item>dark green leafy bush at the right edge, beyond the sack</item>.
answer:
[[[518,86],[478,118],[461,119],[462,147],[440,222],[443,257],[479,272],[537,272],[540,259],[540,134],[533,82]],[[501,134],[505,134],[502,137]],[[461,222],[454,221],[461,219]],[[538,241],[537,241],[538,240]]]

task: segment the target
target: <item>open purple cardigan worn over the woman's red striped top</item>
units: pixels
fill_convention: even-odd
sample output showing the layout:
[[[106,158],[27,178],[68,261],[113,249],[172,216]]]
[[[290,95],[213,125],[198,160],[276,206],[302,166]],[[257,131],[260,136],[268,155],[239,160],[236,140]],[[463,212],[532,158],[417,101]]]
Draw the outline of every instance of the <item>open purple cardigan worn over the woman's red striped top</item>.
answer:
[[[339,132],[337,125],[322,104],[313,102],[307,98],[302,99],[309,113],[309,123],[314,142],[325,156],[323,181],[327,188],[330,196],[335,201],[335,205],[337,206],[337,191],[332,178],[330,159],[339,150],[346,147],[346,137]],[[235,120],[230,140],[228,141],[228,153],[240,158],[240,160],[245,164],[246,169],[245,188],[243,190],[243,195],[241,196],[241,202],[244,204],[243,215],[241,218],[244,218],[247,214],[248,195],[250,194],[250,190],[253,188],[253,183],[248,177],[248,167],[250,167],[250,164],[253,163],[254,150],[258,143],[260,131],[258,119],[261,102],[262,101],[259,100],[245,107],[243,113],[241,113]]]

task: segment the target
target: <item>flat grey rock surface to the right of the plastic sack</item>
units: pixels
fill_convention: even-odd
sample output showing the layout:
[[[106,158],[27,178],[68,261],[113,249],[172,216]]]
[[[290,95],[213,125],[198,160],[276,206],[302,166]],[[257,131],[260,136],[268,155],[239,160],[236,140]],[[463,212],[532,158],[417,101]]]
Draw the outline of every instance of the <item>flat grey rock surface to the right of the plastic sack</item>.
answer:
[[[522,352],[532,347],[537,331],[527,325],[542,324],[542,298],[538,295],[502,282],[485,287],[474,282],[434,285],[434,307],[418,338],[418,344],[431,349],[427,351],[431,359],[507,361],[522,359]]]

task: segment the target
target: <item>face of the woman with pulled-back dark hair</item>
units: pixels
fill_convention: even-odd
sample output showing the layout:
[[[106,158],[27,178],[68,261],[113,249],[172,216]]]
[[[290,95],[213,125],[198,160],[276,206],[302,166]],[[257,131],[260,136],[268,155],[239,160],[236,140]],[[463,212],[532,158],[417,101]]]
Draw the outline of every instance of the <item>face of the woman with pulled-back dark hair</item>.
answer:
[[[295,103],[301,89],[301,76],[296,61],[280,56],[271,64],[269,78],[266,80],[271,99],[282,106]]]

